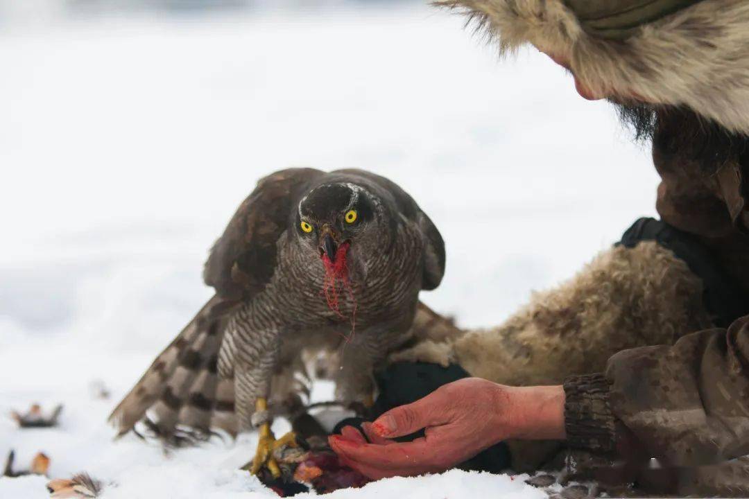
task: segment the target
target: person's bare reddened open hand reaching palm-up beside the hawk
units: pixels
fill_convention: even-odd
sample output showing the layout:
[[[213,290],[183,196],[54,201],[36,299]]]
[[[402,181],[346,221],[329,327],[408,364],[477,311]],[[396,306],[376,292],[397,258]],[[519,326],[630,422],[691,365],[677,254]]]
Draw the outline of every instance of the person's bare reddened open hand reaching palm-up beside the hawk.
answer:
[[[374,480],[436,473],[507,438],[565,438],[564,398],[561,386],[460,379],[364,423],[370,443],[351,426],[328,440],[342,462]],[[419,429],[425,429],[422,438],[391,440]]]

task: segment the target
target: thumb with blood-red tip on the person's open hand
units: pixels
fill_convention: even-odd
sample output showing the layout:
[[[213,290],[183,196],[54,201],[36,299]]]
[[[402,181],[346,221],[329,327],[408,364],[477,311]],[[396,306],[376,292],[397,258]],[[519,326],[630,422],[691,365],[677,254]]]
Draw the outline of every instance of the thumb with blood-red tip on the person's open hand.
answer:
[[[377,417],[372,429],[383,437],[402,437],[445,422],[446,408],[434,393],[416,402],[390,409]]]

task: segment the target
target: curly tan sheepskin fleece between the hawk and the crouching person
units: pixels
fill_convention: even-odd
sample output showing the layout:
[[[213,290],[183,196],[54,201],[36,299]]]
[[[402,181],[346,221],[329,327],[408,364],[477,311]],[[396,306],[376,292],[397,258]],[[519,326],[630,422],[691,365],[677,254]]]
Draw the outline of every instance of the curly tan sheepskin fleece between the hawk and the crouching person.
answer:
[[[419,341],[390,361],[460,364],[471,376],[505,385],[560,385],[571,375],[602,372],[616,352],[673,344],[712,326],[700,278],[670,250],[640,242],[601,252],[494,328],[463,330],[422,307],[413,325]],[[509,444],[516,471],[536,469],[558,448]]]

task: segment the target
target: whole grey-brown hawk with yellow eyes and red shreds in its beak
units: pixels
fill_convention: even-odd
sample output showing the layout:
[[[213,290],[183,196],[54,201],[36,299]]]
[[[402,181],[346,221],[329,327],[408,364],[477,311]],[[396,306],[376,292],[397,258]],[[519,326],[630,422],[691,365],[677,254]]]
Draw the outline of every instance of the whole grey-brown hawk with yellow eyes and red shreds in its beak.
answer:
[[[400,187],[360,170],[291,168],[241,203],[204,266],[215,296],[115,408],[119,434],[139,420],[231,434],[258,427],[252,471],[279,439],[267,409],[298,389],[305,349],[338,349],[336,399],[371,403],[372,372],[406,340],[420,290],[440,284],[437,227]],[[148,412],[148,414],[147,414]]]

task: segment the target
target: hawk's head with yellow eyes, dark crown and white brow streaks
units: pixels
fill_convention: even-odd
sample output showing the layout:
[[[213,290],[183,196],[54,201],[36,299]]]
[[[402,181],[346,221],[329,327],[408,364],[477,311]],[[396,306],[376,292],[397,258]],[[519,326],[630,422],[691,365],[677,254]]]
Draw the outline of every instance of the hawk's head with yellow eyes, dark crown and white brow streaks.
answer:
[[[295,231],[323,260],[335,263],[348,248],[362,254],[377,240],[389,239],[382,200],[351,182],[324,183],[300,200]]]

